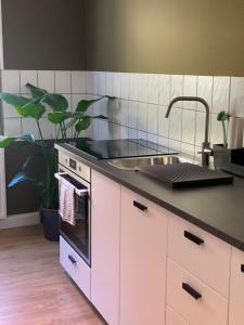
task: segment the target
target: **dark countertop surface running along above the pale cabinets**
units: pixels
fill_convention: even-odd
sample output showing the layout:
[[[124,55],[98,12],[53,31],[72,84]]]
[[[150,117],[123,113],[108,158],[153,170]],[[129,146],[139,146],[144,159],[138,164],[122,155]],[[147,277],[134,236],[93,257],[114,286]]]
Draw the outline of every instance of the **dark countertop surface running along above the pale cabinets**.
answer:
[[[55,147],[244,251],[244,179],[233,184],[172,190],[137,171],[120,170],[67,144]]]

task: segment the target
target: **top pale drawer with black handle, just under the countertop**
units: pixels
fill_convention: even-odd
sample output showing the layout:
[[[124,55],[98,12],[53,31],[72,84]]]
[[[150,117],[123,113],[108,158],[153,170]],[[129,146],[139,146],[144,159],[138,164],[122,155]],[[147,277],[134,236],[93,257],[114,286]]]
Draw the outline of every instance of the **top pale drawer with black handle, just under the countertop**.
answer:
[[[168,256],[229,297],[231,246],[179,217],[168,220]]]

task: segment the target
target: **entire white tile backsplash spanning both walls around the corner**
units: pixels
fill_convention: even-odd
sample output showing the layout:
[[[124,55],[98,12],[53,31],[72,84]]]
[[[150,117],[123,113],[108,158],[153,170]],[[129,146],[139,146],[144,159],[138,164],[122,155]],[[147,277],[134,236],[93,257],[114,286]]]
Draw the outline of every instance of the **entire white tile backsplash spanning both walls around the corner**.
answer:
[[[211,143],[222,142],[221,125],[216,119],[219,110],[244,116],[244,78],[241,77],[2,70],[1,79],[2,90],[9,92],[21,93],[22,90],[25,94],[24,84],[31,82],[49,92],[62,93],[72,109],[81,99],[115,95],[118,100],[104,99],[89,109],[89,114],[103,114],[110,121],[95,120],[82,135],[94,139],[145,139],[197,157],[204,140],[204,107],[200,103],[179,102],[166,119],[170,100],[179,95],[197,95],[207,101],[213,110]],[[18,118],[7,104],[2,104],[2,110],[8,135],[31,131],[39,136],[34,120]],[[53,136],[53,126],[47,119],[41,119],[41,126],[44,138]]]

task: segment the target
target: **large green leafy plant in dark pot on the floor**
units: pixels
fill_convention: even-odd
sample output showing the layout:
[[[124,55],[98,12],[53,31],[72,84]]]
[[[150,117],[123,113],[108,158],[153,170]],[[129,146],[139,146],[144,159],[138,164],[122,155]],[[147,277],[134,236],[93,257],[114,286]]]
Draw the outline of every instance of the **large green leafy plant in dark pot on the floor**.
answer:
[[[24,141],[35,147],[35,153],[29,155],[22,167],[22,170],[11,180],[8,187],[15,186],[21,182],[33,182],[40,191],[41,206],[40,214],[43,223],[44,235],[50,240],[59,240],[59,187],[54,178],[57,169],[57,156],[54,150],[54,143],[59,141],[67,141],[67,131],[74,127],[74,138],[80,136],[80,133],[88,129],[93,119],[106,119],[103,115],[90,116],[87,114],[88,108],[104,98],[100,96],[95,100],[81,100],[78,102],[73,112],[68,110],[68,102],[61,94],[49,93],[44,89],[40,89],[30,83],[26,87],[30,90],[30,98],[20,96],[13,93],[0,92],[0,99],[13,106],[13,109],[21,117],[33,118],[36,122],[40,140],[36,140],[33,134],[22,134],[20,136],[10,136],[0,141],[0,147],[5,148],[15,141]],[[40,118],[47,112],[48,120],[55,125],[55,136],[46,141],[42,135]],[[29,166],[36,158],[42,160],[41,174],[36,177],[30,174]]]

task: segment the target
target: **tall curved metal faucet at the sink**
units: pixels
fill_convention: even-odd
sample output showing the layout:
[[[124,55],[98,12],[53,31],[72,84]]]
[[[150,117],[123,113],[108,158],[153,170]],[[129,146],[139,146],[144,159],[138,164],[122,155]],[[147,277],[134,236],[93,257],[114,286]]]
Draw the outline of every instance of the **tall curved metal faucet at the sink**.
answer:
[[[205,109],[206,109],[206,121],[205,121],[205,139],[202,145],[202,165],[204,167],[209,166],[209,156],[211,154],[211,148],[210,148],[210,143],[208,141],[208,134],[209,134],[209,118],[210,118],[210,109],[209,106],[207,104],[207,102],[202,99],[202,98],[197,98],[197,96],[179,96],[179,98],[175,98],[168,105],[168,109],[166,112],[165,117],[168,118],[169,117],[169,113],[172,108],[172,105],[177,102],[200,102],[204,105]]]

